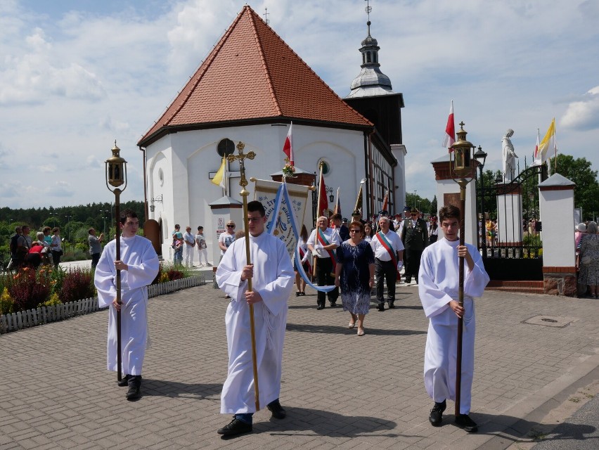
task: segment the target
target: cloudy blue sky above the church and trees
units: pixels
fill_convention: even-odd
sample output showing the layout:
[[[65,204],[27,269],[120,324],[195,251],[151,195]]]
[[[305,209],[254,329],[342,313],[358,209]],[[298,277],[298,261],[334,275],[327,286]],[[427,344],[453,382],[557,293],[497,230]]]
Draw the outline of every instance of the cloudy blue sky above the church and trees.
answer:
[[[245,4],[242,0],[0,0],[0,205],[110,201],[103,161],[136,141]],[[364,0],[247,1],[340,96],[359,73]],[[404,94],[408,192],[432,198],[430,161],[456,123],[501,167],[501,137],[530,162],[553,117],[562,153],[599,169],[599,2],[372,0],[381,70]]]

